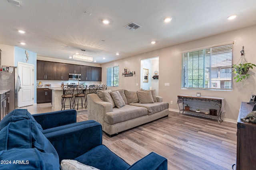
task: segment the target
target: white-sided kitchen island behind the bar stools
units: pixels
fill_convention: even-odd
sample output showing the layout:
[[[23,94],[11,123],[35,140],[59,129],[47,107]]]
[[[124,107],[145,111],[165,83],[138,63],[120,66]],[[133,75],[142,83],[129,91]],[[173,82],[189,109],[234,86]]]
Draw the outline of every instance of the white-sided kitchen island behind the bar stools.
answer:
[[[58,88],[49,88],[52,90],[52,110],[58,111],[61,110],[61,100],[62,100],[62,95],[63,95],[63,90],[61,87]],[[74,94],[76,94],[76,89],[74,90]],[[89,90],[86,89],[86,93],[89,93]],[[66,105],[69,105],[69,100],[66,100]],[[81,105],[78,106],[82,107]],[[84,107],[84,106],[83,106]],[[70,109],[70,107],[66,107],[65,109]]]

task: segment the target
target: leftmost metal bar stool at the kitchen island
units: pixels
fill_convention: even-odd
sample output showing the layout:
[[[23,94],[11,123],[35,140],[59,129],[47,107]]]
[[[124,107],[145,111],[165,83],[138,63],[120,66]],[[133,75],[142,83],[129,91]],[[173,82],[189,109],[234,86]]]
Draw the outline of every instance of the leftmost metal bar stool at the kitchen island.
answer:
[[[73,99],[73,94],[74,94],[74,89],[75,87],[74,86],[63,86],[63,95],[61,96],[62,97],[62,100],[61,100],[61,110],[64,108],[65,110],[65,107],[67,106],[70,106],[70,109],[73,109],[74,108],[74,99]],[[69,105],[66,105],[66,100],[69,99]],[[71,108],[72,106],[72,108]]]

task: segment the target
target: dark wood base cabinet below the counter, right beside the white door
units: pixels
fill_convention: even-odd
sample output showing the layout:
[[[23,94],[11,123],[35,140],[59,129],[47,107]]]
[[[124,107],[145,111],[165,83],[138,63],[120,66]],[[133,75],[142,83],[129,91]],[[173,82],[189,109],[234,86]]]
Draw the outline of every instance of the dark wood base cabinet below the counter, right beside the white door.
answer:
[[[52,102],[52,90],[48,88],[36,89],[36,103],[51,103]]]

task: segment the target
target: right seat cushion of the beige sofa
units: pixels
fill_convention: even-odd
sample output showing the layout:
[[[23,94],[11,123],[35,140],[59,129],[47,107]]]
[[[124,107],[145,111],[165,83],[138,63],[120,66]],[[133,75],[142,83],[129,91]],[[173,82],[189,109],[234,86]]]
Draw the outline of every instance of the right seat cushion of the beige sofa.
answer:
[[[169,108],[168,102],[156,102],[156,103],[150,103],[150,104],[132,103],[130,105],[137,106],[137,107],[145,107],[148,110],[148,115],[152,115],[154,113],[157,113],[159,111]]]

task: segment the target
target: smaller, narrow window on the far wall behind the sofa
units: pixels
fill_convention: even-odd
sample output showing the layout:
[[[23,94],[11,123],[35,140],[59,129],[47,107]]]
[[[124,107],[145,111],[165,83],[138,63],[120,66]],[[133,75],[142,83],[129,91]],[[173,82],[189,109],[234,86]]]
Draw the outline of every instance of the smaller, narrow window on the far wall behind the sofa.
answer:
[[[107,86],[119,86],[119,66],[107,68]]]

